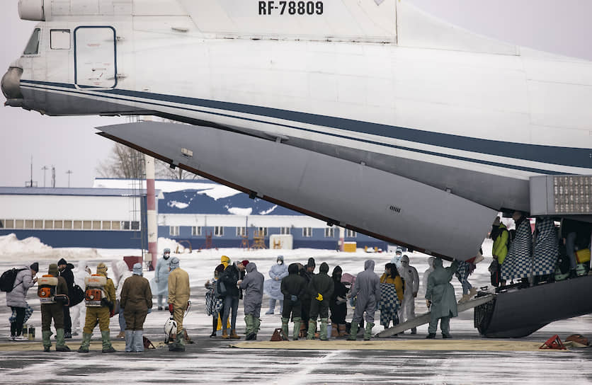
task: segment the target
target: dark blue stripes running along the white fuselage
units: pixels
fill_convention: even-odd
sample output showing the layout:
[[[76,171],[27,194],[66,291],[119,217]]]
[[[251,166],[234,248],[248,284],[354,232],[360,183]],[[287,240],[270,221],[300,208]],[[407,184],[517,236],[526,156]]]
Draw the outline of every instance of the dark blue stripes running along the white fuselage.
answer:
[[[21,80],[23,84],[40,84],[45,86],[57,86],[62,88],[72,88],[75,89],[73,84],[62,84],[62,83],[52,83],[47,81],[31,81],[31,80]],[[92,90],[86,90],[92,91]],[[108,93],[111,95],[119,95],[119,96],[129,96],[133,98],[142,98],[142,99],[149,99],[149,100],[159,100],[168,103],[177,103],[183,105],[192,105],[192,106],[199,106],[205,108],[215,108],[218,110],[227,110],[227,111],[234,111],[237,113],[247,113],[251,115],[259,115],[265,117],[274,117],[282,120],[289,120],[292,122],[301,122],[309,125],[316,125],[316,126],[324,126],[324,127],[333,127],[338,130],[348,130],[351,132],[358,132],[362,134],[372,134],[381,137],[389,137],[392,139],[401,139],[406,140],[409,142],[416,142],[422,144],[429,144],[432,146],[440,146],[440,147],[447,147],[449,149],[457,149],[462,151],[471,151],[477,152],[481,154],[489,154],[494,156],[503,156],[513,159],[520,159],[526,161],[535,161],[540,163],[551,163],[557,164],[561,166],[573,166],[573,167],[581,167],[581,168],[591,168],[592,167],[592,152],[590,149],[580,149],[574,147],[559,147],[559,146],[544,146],[540,144],[524,144],[524,143],[515,143],[515,142],[501,142],[491,139],[479,139],[479,138],[472,138],[472,137],[463,137],[460,135],[455,134],[443,134],[440,132],[430,132],[430,131],[422,131],[422,130],[414,130],[411,128],[405,127],[397,127],[391,125],[382,125],[380,123],[372,123],[372,122],[364,122],[361,120],[352,120],[346,119],[343,117],[331,117],[325,115],[317,115],[311,113],[301,113],[297,111],[290,111],[290,110],[281,110],[278,108],[270,108],[270,107],[261,107],[258,105],[246,105],[240,103],[229,103],[229,102],[222,102],[217,100],[208,100],[208,99],[200,99],[200,98],[189,98],[186,96],[174,96],[174,95],[166,95],[162,93],[147,93],[141,91],[130,91],[130,90],[122,90],[122,89],[111,89],[111,90],[97,90],[93,92],[98,93]],[[127,99],[123,99],[127,100]],[[137,101],[137,100],[128,100],[128,101]],[[146,103],[139,101],[138,103]],[[156,103],[152,103],[156,104]],[[170,105],[166,105],[167,107],[172,107]],[[173,107],[174,108],[174,107]],[[188,108],[185,108],[188,109]],[[203,111],[200,110],[199,112],[202,113],[212,113],[210,111]],[[249,118],[234,116],[234,115],[224,115],[220,113],[213,113],[216,115],[223,115],[229,117],[235,117],[238,119],[244,120],[251,120],[251,121],[258,121]],[[261,121],[264,123],[272,124],[272,125],[281,125],[274,122],[266,122]],[[346,137],[338,134],[331,134],[329,132],[324,131],[317,131],[317,130],[308,130],[303,127],[295,127],[289,125],[281,125],[284,127],[295,128],[297,130],[307,130],[312,132],[319,132],[321,134],[328,134],[331,136],[336,137],[345,137],[346,139],[354,139],[354,140],[363,140],[353,137]],[[479,163],[484,164],[491,164],[491,165],[499,165],[496,162],[489,162],[477,159],[467,159],[462,156],[451,156],[450,154],[439,154],[433,153],[432,151],[423,151],[419,149],[411,149],[402,146],[394,146],[388,145],[385,143],[377,143],[368,140],[363,140],[363,142],[368,143],[375,143],[380,144],[382,146],[390,146],[394,148],[401,148],[410,151],[421,151],[425,154],[433,154],[437,156],[446,156],[448,158],[453,159],[463,159],[468,161],[477,161]],[[511,166],[501,164],[500,166],[506,168],[516,168],[520,170],[527,170],[527,171],[534,171],[537,173],[549,173],[549,171],[537,170],[534,168],[524,168],[521,166]]]

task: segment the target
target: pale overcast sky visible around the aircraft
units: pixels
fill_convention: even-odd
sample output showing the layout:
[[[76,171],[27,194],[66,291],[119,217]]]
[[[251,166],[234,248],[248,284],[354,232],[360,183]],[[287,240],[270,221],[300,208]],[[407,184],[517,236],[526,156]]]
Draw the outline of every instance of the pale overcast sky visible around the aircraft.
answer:
[[[47,1],[47,0],[46,0]],[[241,1],[241,0],[235,0]],[[370,1],[370,0],[363,0]],[[592,1],[581,0],[402,0],[439,18],[483,35],[592,60]],[[35,22],[18,18],[17,0],[0,1],[0,75],[18,59]],[[42,187],[43,166],[55,166],[56,186],[90,187],[98,161],[113,142],[94,127],[123,122],[113,117],[45,117],[21,108],[4,107],[0,96],[0,185],[23,186],[33,180]],[[51,170],[45,173],[50,185]]]

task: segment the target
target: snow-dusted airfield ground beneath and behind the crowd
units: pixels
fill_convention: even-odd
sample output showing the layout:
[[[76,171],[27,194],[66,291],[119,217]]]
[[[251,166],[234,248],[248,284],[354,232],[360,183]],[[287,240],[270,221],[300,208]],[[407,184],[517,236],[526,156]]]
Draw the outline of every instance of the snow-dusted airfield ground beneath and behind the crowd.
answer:
[[[164,349],[144,352],[144,354],[117,353],[106,357],[100,351],[89,355],[79,353],[47,354],[42,352],[19,352],[0,350],[0,384],[79,384],[92,381],[93,384],[139,383],[186,383],[186,384],[557,384],[569,378],[570,384],[588,384],[592,381],[591,350],[570,352],[427,352],[427,351],[308,351],[308,350],[242,350],[229,349],[228,343],[207,336],[211,332],[211,318],[204,311],[204,283],[210,280],[213,270],[220,263],[221,255],[228,255],[233,261],[250,260],[258,270],[268,278],[268,269],[275,264],[278,254],[284,255],[286,263],[306,263],[314,257],[318,267],[322,262],[329,264],[332,271],[336,265],[343,272],[357,274],[363,270],[364,261],[376,262],[375,272],[382,273],[385,263],[392,254],[365,253],[358,249],[355,253],[339,253],[331,250],[296,249],[296,250],[257,250],[246,251],[239,248],[204,250],[193,253],[174,253],[176,242],[159,239],[159,254],[165,248],[171,248],[173,255],[181,260],[181,268],[190,276],[192,308],[185,318],[184,326],[196,341],[188,345],[188,351],[172,354]],[[491,241],[484,243],[484,255],[491,255]],[[183,248],[179,248],[183,251]],[[14,258],[18,255],[18,258]],[[64,255],[68,255],[64,257]],[[0,237],[0,271],[18,263],[27,265],[35,260],[40,263],[40,275],[47,271],[49,263],[59,258],[66,258],[77,264],[78,260],[89,260],[93,272],[96,265],[104,261],[109,263],[109,274],[113,269],[110,262],[120,260],[124,255],[141,255],[139,250],[121,249],[70,249],[48,248],[34,240],[17,241],[10,236]],[[420,280],[428,268],[428,255],[409,253],[411,265],[419,272]],[[489,284],[487,266],[490,258],[477,265],[470,281],[475,287]],[[448,264],[445,264],[448,265]],[[144,277],[151,280],[154,272],[144,272]],[[457,298],[460,298],[460,283],[454,278]],[[420,288],[420,293],[423,288]],[[0,337],[8,343],[9,334],[6,296],[0,295]],[[421,294],[416,300],[416,313],[426,311]],[[28,292],[28,302],[34,312],[28,323],[37,328],[37,341],[40,343],[40,306],[35,287]],[[81,305],[79,305],[81,306]],[[156,307],[156,299],[154,299]],[[265,315],[268,309],[268,297],[263,298],[261,309],[261,331],[258,340],[268,340],[273,329],[280,326],[278,308],[274,315]],[[348,320],[352,311],[348,309]],[[244,330],[242,302],[239,304],[237,329]],[[375,315],[379,317],[379,313]],[[167,311],[152,311],[144,324],[144,333],[155,342],[164,338],[164,322],[169,318]],[[81,323],[84,321],[81,321]],[[588,337],[592,330],[592,316],[581,316],[569,320],[551,323],[528,340],[547,340],[559,333],[565,338],[571,333],[582,333]],[[473,326],[472,311],[466,311],[450,322],[455,338],[479,339],[479,333]],[[110,321],[111,336],[119,331],[118,316]],[[382,330],[375,326],[374,333]],[[418,335],[405,334],[400,338],[421,338],[427,333],[427,326],[418,328]],[[95,330],[94,340],[98,330]],[[439,337],[439,335],[438,335]],[[241,339],[241,340],[244,340]],[[79,346],[80,336],[67,343],[74,350]],[[11,343],[17,344],[17,343]],[[41,350],[41,345],[39,345]],[[108,361],[107,361],[108,360]],[[25,365],[26,370],[23,370]]]

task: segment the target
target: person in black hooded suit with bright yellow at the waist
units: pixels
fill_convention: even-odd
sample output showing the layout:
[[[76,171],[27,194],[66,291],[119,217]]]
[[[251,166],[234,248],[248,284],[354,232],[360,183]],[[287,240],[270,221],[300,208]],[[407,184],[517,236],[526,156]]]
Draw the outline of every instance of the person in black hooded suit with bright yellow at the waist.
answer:
[[[327,337],[327,323],[329,322],[329,302],[335,290],[333,278],[327,274],[329,265],[321,263],[319,274],[314,275],[308,285],[310,295],[310,315],[308,321],[307,340],[314,340],[314,333],[317,331],[317,317],[321,316],[321,330],[319,339],[329,340]]]

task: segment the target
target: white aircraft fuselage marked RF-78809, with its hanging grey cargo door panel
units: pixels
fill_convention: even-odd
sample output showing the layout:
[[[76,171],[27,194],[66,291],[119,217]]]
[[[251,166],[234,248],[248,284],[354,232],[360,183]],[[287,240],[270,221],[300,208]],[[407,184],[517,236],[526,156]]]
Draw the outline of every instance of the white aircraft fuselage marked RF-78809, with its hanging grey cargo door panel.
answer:
[[[4,76],[6,104],[190,123],[104,132],[329,224],[467,260],[497,212],[529,212],[529,178],[592,174],[585,60],[394,0],[300,1],[292,15],[280,1],[58,3],[45,0],[37,52]],[[355,22],[339,24],[339,6]]]

